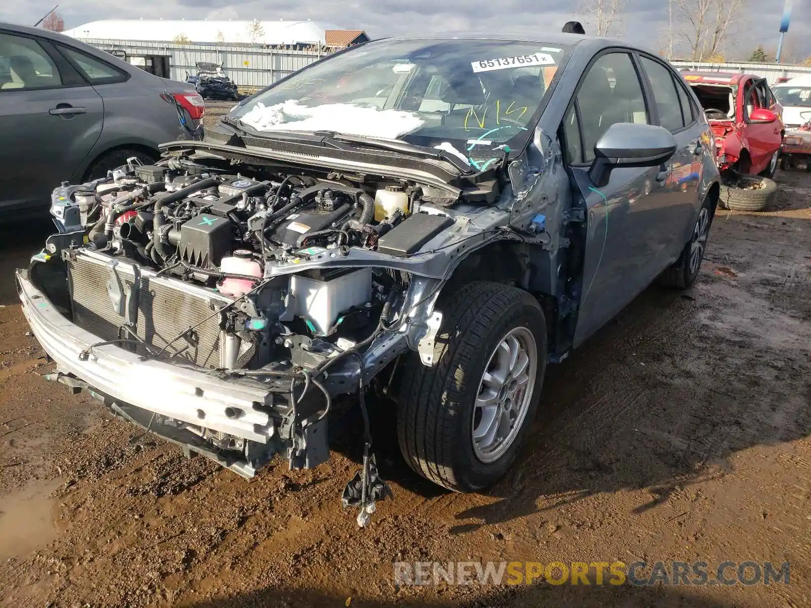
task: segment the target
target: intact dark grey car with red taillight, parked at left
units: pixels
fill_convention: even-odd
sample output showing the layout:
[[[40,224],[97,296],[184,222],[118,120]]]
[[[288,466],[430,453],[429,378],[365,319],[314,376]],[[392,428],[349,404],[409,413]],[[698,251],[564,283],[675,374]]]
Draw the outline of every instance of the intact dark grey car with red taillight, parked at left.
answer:
[[[158,144],[190,139],[204,110],[191,84],[0,23],[0,222],[45,215],[59,182],[103,177],[131,156],[156,161]]]

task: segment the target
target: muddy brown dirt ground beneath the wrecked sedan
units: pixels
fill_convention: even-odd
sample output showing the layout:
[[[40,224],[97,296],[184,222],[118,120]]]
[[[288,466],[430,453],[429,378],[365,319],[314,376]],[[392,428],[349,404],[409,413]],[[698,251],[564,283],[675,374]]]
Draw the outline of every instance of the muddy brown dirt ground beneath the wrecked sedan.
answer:
[[[357,442],[252,482],[144,436],[41,374],[0,256],[2,606],[808,606],[811,175],[772,212],[719,212],[689,293],[652,287],[551,366],[517,464],[457,495],[377,441],[395,499],[367,529],[339,496]],[[148,381],[148,379],[145,379]],[[340,435],[340,434],[339,434]],[[396,587],[394,560],[791,562],[791,584]],[[351,600],[349,599],[351,598]]]

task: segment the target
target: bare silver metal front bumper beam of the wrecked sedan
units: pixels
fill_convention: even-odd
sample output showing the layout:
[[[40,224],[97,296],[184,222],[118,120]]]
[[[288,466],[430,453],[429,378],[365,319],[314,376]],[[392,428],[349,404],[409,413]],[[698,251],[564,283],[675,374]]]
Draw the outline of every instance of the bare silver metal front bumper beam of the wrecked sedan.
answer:
[[[276,454],[294,456],[294,442],[285,439],[293,412],[290,379],[217,376],[182,361],[144,358],[137,340],[107,340],[101,319],[98,332],[73,323],[31,274],[16,272],[19,298],[36,340],[56,363],[49,379],[87,390],[118,416],[246,477]],[[304,465],[328,458],[325,438],[303,447]]]

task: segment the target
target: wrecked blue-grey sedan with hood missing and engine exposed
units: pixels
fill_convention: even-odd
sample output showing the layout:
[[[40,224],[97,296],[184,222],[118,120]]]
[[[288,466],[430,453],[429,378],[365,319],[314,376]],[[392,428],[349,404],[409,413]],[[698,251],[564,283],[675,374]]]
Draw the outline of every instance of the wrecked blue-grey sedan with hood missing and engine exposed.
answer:
[[[491,485],[547,362],[693,285],[719,196],[672,66],[565,34],[359,45],[162,154],[54,191],[16,274],[50,378],[246,477],[324,462],[359,407],[361,525],[390,493],[368,408],[416,473]]]

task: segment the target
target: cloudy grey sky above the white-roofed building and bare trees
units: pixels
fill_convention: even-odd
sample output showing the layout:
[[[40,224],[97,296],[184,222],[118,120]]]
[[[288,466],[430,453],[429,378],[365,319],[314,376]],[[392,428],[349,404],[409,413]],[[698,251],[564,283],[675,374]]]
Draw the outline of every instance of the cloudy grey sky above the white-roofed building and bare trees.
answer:
[[[371,36],[413,32],[542,32],[577,19],[571,6],[580,0],[65,0],[58,12],[66,28],[96,19],[312,19],[365,29]],[[588,2],[589,0],[585,0]],[[690,0],[688,0],[690,1]],[[2,2],[0,21],[33,24],[58,0]],[[620,37],[662,48],[667,30],[667,0],[624,0]],[[562,6],[563,5],[563,6]],[[727,57],[748,57],[762,44],[773,54],[779,38],[783,0],[744,0],[737,35],[728,36]],[[586,20],[585,18],[580,18]],[[811,2],[795,0],[787,54],[811,55]]]

